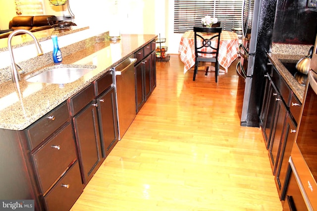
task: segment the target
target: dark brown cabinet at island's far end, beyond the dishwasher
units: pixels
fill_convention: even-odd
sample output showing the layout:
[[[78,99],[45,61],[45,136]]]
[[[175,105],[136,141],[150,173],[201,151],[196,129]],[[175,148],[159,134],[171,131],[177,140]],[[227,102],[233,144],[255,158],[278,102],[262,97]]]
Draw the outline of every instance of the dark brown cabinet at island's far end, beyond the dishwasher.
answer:
[[[155,41],[147,44],[134,54],[136,113],[140,111],[156,87]],[[142,55],[144,55],[142,57]]]

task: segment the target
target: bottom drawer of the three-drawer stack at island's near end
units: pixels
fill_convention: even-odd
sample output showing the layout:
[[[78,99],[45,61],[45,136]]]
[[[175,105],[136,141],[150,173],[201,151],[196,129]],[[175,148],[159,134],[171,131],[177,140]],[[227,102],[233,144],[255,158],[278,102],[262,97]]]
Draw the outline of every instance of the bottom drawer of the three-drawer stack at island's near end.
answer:
[[[63,175],[44,197],[47,211],[69,211],[83,192],[78,162]]]

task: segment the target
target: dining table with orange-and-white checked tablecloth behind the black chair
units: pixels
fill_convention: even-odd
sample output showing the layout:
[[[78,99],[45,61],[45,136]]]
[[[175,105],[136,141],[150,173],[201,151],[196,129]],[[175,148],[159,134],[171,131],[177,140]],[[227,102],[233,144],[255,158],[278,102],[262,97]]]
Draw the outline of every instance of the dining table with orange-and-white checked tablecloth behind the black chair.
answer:
[[[238,35],[232,31],[223,30],[220,34],[218,62],[227,73],[231,63],[238,57]],[[184,63],[184,74],[195,65],[195,34],[194,31],[186,31],[180,40],[178,53]],[[214,56],[214,55],[212,55]]]

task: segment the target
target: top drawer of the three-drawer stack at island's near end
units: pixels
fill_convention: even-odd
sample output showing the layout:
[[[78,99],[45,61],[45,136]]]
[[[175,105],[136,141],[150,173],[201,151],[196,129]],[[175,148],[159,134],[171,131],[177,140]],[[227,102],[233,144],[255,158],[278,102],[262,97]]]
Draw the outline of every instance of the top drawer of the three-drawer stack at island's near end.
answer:
[[[30,150],[33,150],[68,120],[68,107],[67,103],[64,102],[28,127],[26,133],[29,139]]]

